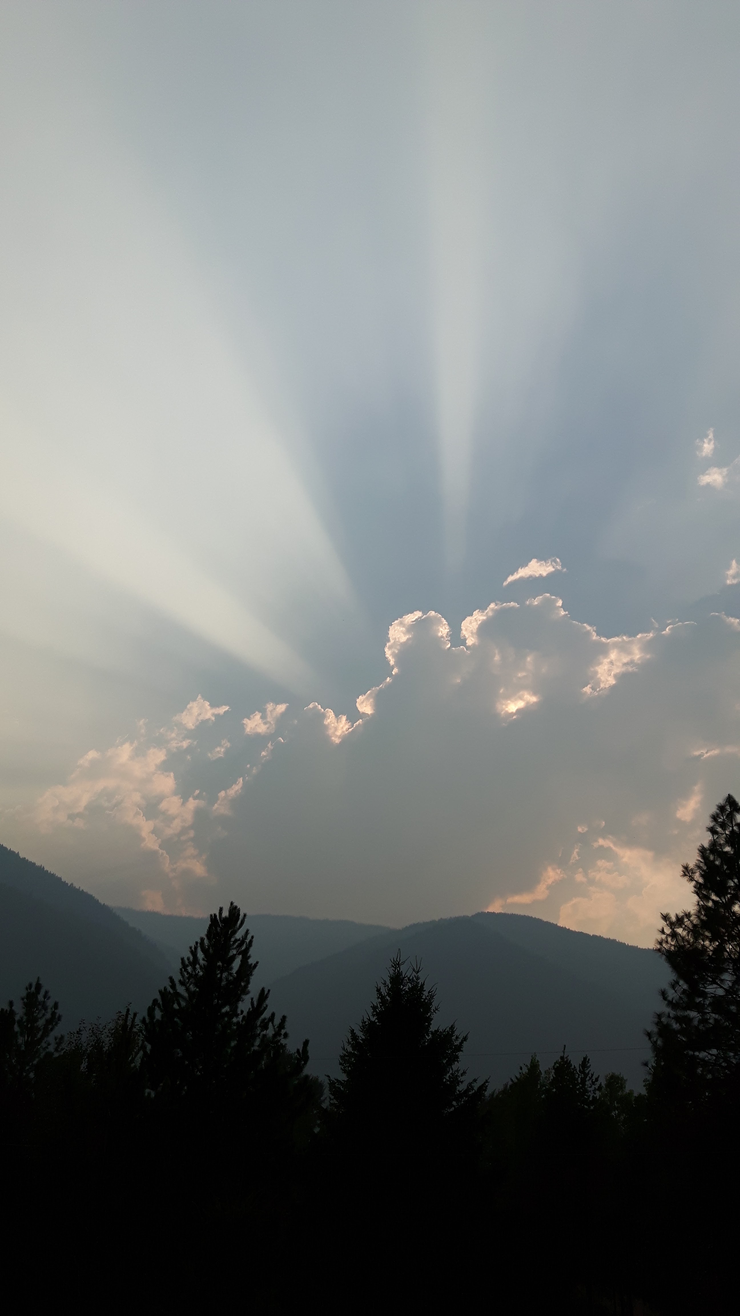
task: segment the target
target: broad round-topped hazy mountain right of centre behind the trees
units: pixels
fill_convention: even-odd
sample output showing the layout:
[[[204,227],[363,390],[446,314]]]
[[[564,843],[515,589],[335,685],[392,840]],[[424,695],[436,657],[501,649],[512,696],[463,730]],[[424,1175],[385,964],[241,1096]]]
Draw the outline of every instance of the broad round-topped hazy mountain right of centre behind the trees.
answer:
[[[533,941],[541,936],[548,944],[552,925],[544,926],[544,932],[528,928],[521,936]],[[456,1020],[470,1034],[466,1065],[471,1075],[490,1076],[499,1084],[533,1051],[546,1065],[565,1044],[573,1055],[589,1051],[596,1071],[620,1070],[640,1086],[640,1062],[648,1054],[644,1029],[658,1005],[657,986],[668,974],[664,970],[653,984],[657,957],[652,951],[610,942],[603,975],[590,961],[591,948],[583,950],[582,963],[591,963],[586,980],[585,974],[554,962],[560,930],[554,929],[556,950],[545,958],[517,945],[514,937],[502,936],[498,925],[486,919],[448,919],[404,928],[278,979],[271,1005],[287,1013],[292,1042],[309,1038],[313,1073],[337,1073],[342,1038],[367,1009],[375,982],[400,949],[404,957],[421,959],[428,980],[437,986],[440,1023]],[[652,957],[650,970],[639,988],[632,983],[621,991],[614,965],[624,965],[627,983],[635,963],[641,963],[635,951],[637,957]],[[582,969],[582,963],[577,967]],[[615,983],[616,990],[599,976]]]

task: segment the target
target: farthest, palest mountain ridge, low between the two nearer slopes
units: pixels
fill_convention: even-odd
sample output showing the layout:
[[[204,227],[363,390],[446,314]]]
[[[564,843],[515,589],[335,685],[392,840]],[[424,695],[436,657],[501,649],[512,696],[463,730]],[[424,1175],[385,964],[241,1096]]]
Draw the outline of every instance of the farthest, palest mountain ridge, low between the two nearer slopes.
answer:
[[[201,937],[208,919],[184,915],[154,913],[149,909],[115,911],[138,928],[179,966],[196,937]],[[303,919],[282,913],[253,913],[246,925],[254,936],[253,957],[259,962],[257,982],[269,984],[302,965],[324,959],[348,946],[357,945],[392,929],[377,924],[350,923],[346,919]]]

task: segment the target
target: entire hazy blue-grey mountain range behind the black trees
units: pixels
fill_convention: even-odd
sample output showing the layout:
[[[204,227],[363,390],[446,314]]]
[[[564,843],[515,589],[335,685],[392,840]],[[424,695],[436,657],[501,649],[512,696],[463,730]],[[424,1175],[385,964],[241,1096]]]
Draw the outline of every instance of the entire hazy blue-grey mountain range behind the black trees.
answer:
[[[207,919],[113,911],[0,846],[0,1001],[41,976],[63,1026],[142,1009],[204,933]],[[568,1046],[600,1071],[643,1079],[644,1029],[668,982],[664,961],[607,937],[514,913],[479,913],[390,929],[346,920],[248,916],[257,982],[287,1013],[291,1040],[311,1042],[311,1070],[337,1074],[341,1042],[373,999],[391,955],[423,961],[440,1023],[470,1034],[471,1075],[500,1083],[536,1051]]]

